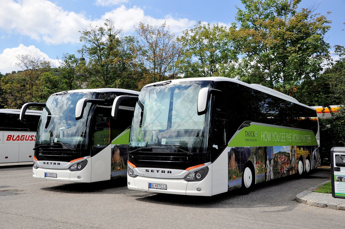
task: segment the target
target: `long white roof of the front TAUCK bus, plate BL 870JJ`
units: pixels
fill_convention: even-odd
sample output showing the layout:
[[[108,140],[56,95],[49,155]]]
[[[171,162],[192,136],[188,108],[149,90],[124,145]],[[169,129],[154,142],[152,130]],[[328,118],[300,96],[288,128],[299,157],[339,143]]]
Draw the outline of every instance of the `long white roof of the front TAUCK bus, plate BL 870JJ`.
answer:
[[[164,83],[167,81],[169,81],[169,80],[160,81],[160,82],[156,82],[156,83],[150,83],[150,84],[147,84],[145,87],[153,86],[154,84]],[[301,106],[308,107],[308,108],[311,108],[314,110],[313,107],[309,107],[303,103],[300,103],[300,102],[298,102],[297,99],[295,99],[291,96],[288,96],[282,92],[276,91],[272,88],[268,88],[268,87],[262,86],[260,84],[255,84],[255,83],[249,84],[249,83],[245,83],[245,82],[242,82],[240,80],[236,80],[236,79],[232,79],[232,78],[227,78],[227,77],[197,77],[197,78],[183,78],[183,79],[171,80],[171,82],[186,82],[186,81],[230,81],[230,82],[242,84],[243,86],[246,86],[248,88],[253,88],[255,90],[264,92],[266,94],[271,94],[275,97],[278,97],[278,98],[281,98],[281,99],[284,99],[284,100],[287,100],[287,101],[290,101],[290,102],[293,102],[293,103],[296,103],[296,104],[299,104]]]

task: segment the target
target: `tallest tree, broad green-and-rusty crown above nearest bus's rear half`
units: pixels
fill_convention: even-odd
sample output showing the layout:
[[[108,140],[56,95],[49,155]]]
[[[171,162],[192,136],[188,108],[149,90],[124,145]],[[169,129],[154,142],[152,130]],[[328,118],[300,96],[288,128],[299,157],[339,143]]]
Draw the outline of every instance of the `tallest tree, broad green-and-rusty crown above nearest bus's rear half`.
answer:
[[[237,7],[237,48],[240,78],[260,83],[299,99],[304,84],[322,71],[328,61],[329,44],[325,33],[331,23],[315,9],[298,9],[301,0],[242,0]],[[252,74],[258,66],[259,74]]]

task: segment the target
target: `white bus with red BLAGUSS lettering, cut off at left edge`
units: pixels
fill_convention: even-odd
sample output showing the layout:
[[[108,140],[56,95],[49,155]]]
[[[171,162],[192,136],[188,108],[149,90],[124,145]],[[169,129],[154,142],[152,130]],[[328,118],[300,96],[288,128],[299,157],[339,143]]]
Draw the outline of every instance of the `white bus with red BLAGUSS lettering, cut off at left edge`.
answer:
[[[30,162],[42,111],[27,110],[19,120],[20,110],[0,109],[0,163]]]

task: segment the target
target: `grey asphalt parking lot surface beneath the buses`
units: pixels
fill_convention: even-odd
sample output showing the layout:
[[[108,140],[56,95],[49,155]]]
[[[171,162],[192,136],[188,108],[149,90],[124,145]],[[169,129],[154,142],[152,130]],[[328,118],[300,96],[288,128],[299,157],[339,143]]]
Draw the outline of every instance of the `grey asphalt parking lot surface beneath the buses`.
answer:
[[[32,167],[0,166],[0,228],[343,228],[344,211],[296,202],[329,170],[213,197],[128,190],[125,178],[65,183],[32,178]]]

